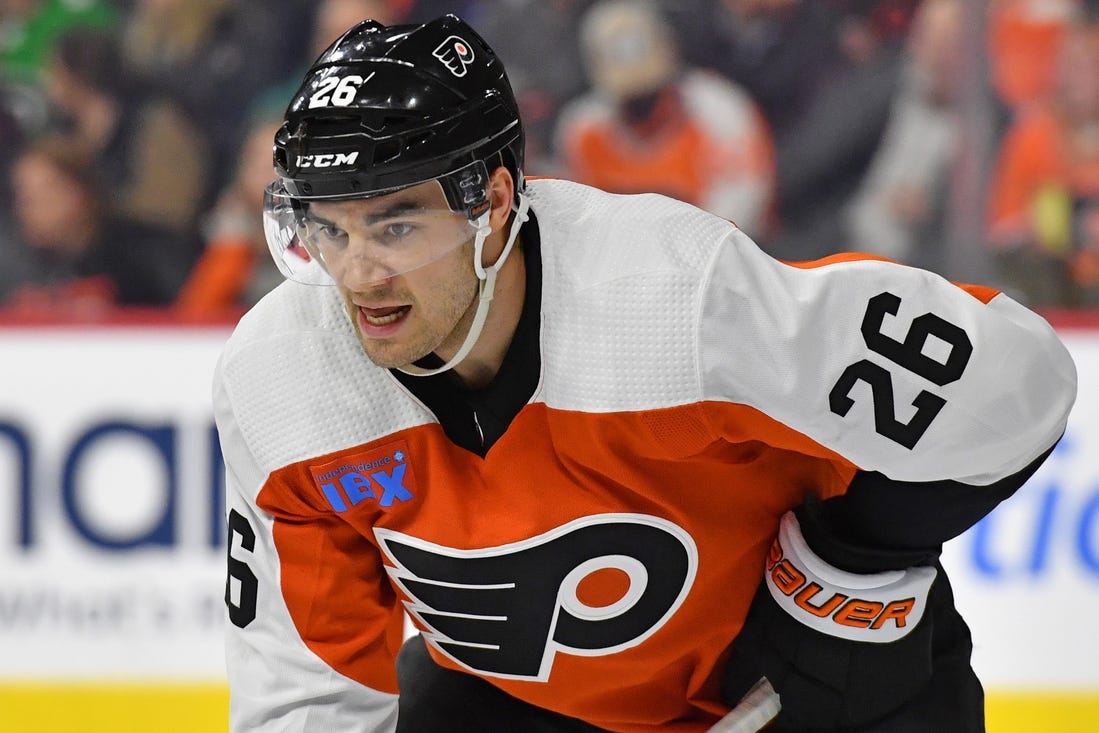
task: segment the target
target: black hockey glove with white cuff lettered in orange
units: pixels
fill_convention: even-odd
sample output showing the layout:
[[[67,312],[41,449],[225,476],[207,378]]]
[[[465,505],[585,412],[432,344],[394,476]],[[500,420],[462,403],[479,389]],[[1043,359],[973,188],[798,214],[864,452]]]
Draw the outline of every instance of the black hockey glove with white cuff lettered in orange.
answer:
[[[807,518],[811,537],[803,535]],[[781,730],[834,731],[885,717],[931,679],[937,569],[913,563],[934,551],[862,548],[828,532],[820,503],[787,512],[744,628],[722,698],[735,706],[766,677],[779,695]],[[864,571],[840,569],[833,562]],[[901,569],[884,569],[897,568]]]

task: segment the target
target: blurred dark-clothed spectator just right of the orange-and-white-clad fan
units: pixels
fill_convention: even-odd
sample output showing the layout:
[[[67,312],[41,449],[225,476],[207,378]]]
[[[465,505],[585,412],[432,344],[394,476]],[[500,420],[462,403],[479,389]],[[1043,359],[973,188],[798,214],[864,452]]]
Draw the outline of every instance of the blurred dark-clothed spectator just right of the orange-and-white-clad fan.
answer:
[[[688,62],[741,85],[775,145],[775,256],[845,248],[835,215],[880,141],[919,0],[668,2]]]

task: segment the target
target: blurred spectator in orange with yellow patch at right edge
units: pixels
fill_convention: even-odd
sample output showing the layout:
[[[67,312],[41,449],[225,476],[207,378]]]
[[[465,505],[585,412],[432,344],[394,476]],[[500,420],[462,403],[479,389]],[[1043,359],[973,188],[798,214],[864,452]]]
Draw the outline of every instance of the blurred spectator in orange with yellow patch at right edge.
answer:
[[[1008,130],[989,216],[1007,285],[1029,304],[1099,304],[1099,22],[1068,31],[1052,98]]]

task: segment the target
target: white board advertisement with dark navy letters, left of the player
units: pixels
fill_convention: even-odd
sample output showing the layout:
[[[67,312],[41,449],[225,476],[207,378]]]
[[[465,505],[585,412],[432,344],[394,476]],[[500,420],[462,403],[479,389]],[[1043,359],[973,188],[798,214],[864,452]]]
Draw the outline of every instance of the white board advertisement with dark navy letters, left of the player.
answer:
[[[226,335],[3,334],[0,681],[224,676]]]

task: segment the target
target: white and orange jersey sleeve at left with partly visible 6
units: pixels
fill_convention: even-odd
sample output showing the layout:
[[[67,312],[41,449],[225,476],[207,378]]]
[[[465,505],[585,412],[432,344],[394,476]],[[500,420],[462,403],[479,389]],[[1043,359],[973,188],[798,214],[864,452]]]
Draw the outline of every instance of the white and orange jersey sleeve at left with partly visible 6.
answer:
[[[221,364],[214,414],[226,467],[230,730],[393,731],[402,618],[377,548],[296,503],[259,466]]]

